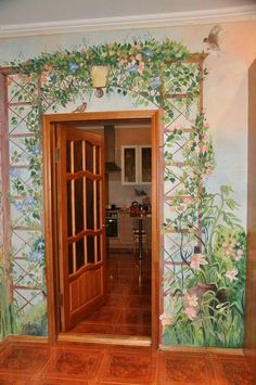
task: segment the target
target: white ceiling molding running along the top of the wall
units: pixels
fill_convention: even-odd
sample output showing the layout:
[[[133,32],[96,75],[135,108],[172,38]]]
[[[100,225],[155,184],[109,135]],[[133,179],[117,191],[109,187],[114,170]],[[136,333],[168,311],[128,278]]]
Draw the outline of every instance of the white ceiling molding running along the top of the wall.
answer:
[[[0,38],[115,30],[140,27],[163,27],[256,20],[256,5],[206,11],[174,12],[154,15],[86,18],[65,22],[11,24],[0,26]]]

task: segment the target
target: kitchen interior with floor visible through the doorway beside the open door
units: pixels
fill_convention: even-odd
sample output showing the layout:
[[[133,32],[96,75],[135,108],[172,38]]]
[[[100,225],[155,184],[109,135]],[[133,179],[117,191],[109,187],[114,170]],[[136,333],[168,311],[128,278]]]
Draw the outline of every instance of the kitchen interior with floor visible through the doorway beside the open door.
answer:
[[[151,123],[98,121],[84,128],[104,134],[104,304],[71,332],[151,336]]]

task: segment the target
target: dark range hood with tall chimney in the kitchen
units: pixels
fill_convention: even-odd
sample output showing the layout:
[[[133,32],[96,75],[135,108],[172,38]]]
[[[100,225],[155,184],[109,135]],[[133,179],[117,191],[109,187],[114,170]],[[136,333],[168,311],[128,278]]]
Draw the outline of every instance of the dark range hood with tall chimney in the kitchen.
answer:
[[[104,126],[104,140],[105,140],[105,174],[120,172],[120,166],[115,161],[115,126]]]

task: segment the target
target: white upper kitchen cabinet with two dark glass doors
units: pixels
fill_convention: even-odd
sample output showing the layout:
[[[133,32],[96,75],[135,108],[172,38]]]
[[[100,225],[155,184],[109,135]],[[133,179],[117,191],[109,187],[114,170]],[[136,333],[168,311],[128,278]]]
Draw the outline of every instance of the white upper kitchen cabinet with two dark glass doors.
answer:
[[[121,146],[121,184],[151,183],[151,146]]]

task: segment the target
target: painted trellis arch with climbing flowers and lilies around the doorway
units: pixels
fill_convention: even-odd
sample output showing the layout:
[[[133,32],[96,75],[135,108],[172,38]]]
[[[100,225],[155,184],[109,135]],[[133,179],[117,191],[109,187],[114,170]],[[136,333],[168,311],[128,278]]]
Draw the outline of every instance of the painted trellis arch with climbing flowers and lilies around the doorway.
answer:
[[[207,190],[216,159],[201,98],[205,56],[169,39],[151,39],[10,63],[9,256],[18,333],[47,334],[40,116],[89,103],[95,91],[91,68],[104,65],[106,95],[163,110],[163,344],[242,346],[245,231],[232,187]]]

